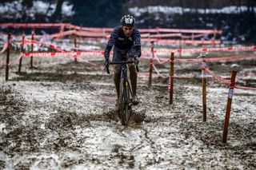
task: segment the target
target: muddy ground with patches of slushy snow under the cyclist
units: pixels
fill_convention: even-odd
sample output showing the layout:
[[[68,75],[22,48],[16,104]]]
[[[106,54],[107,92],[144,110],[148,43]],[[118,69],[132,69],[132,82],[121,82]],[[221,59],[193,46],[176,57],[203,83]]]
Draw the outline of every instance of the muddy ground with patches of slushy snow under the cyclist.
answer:
[[[102,59],[91,61],[102,65]],[[29,61],[23,61],[28,63]],[[230,76],[255,73],[255,59],[209,63]],[[148,71],[148,61],[140,64]],[[228,87],[207,81],[207,121],[202,121],[200,80],[175,80],[169,105],[168,81],[138,78],[141,103],[130,124],[122,126],[114,112],[113,73],[107,75],[69,58],[35,59],[1,67],[0,169],[255,169],[256,92],[235,89],[227,144],[222,144]],[[169,65],[156,65],[167,74]],[[200,76],[200,64],[179,63],[177,75]],[[142,74],[141,74],[142,75]],[[145,74],[143,74],[145,75]],[[254,81],[238,80],[254,86]]]

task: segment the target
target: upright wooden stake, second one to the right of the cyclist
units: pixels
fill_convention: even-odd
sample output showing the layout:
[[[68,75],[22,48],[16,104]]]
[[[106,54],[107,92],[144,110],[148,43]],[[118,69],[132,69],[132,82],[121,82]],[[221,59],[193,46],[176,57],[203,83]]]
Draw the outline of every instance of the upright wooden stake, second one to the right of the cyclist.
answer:
[[[174,53],[170,53],[170,81],[169,81],[169,104],[173,104],[173,97],[174,97]]]

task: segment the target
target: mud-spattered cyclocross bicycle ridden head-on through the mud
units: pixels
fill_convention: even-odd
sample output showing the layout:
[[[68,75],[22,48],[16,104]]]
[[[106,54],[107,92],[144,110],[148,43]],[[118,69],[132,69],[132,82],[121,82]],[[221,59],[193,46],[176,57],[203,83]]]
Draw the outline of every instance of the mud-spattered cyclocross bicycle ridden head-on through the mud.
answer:
[[[132,91],[130,88],[130,81],[127,75],[127,64],[135,64],[134,61],[114,61],[110,62],[110,65],[121,65],[121,80],[120,80],[120,92],[119,92],[119,117],[122,125],[127,125],[130,121],[131,106],[132,106]],[[138,72],[138,65],[136,65]]]

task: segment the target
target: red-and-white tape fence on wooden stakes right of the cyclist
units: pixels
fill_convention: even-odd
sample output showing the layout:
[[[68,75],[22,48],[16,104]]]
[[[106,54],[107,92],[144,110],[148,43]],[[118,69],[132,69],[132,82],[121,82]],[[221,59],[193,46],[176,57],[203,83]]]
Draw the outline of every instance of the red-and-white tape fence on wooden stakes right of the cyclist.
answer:
[[[216,49],[216,48],[215,48]],[[207,51],[207,50],[211,50],[211,51],[215,51],[214,48],[211,49],[200,49],[202,52]],[[218,49],[218,48],[217,48]],[[255,50],[255,46],[252,47],[242,47],[242,48],[220,48],[220,50],[241,50],[241,49],[252,49]],[[152,51],[154,51],[154,49],[151,49]],[[185,49],[184,51],[193,51],[191,49]],[[194,51],[198,51],[198,49],[194,49]],[[180,50],[180,52],[182,52],[182,50]],[[159,77],[163,77],[163,78],[169,78],[169,85],[168,85],[168,89],[170,91],[170,105],[173,104],[173,89],[174,89],[174,53],[172,52],[170,55],[170,59],[167,60],[162,60],[159,59],[156,55],[154,55],[154,52],[152,54],[153,57],[150,57],[150,67],[152,65],[152,67],[154,68],[155,72],[158,73]],[[231,103],[232,103],[232,97],[234,95],[234,88],[237,89],[252,89],[252,90],[256,90],[256,88],[253,87],[242,87],[242,86],[238,86],[235,85],[235,77],[236,77],[236,73],[237,71],[233,71],[232,72],[232,76],[230,78],[231,81],[228,81],[222,77],[219,77],[218,74],[214,73],[213,71],[210,70],[210,68],[206,65],[206,61],[219,61],[219,60],[232,60],[232,59],[238,59],[238,58],[246,58],[246,57],[254,57],[256,58],[256,56],[238,56],[238,57],[215,57],[215,58],[206,58],[206,53],[201,53],[200,57],[198,57],[197,59],[177,59],[176,61],[178,62],[202,62],[202,119],[203,121],[206,121],[206,73],[209,73],[212,77],[214,77],[215,80],[217,80],[218,82],[225,84],[225,85],[230,85],[230,89],[229,89],[229,93],[228,93],[228,97],[227,97],[227,107],[226,107],[226,117],[225,117],[225,123],[224,123],[224,128],[223,128],[223,135],[222,135],[222,142],[226,143],[226,138],[227,138],[227,134],[228,134],[228,127],[229,127],[229,121],[230,121],[230,110],[231,110]],[[159,73],[158,69],[156,69],[155,65],[154,65],[154,60],[153,58],[155,58],[155,61],[158,61],[158,64],[164,64],[167,62],[170,62],[170,73],[169,73],[169,77],[165,77],[163,76],[161,73]],[[151,82],[152,80],[152,70],[150,69],[150,77],[149,77],[149,81]]]

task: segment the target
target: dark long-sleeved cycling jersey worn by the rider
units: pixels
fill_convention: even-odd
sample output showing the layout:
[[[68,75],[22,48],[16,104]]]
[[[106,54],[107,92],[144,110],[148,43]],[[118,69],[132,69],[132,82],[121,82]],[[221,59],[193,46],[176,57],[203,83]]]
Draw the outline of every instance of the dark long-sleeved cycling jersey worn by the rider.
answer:
[[[138,57],[141,56],[141,36],[136,28],[134,28],[133,33],[129,38],[126,38],[125,34],[123,34],[122,26],[117,26],[114,28],[106,45],[104,53],[106,59],[109,59],[110,50],[112,49],[113,45],[122,50],[131,49],[134,47],[135,55]]]

